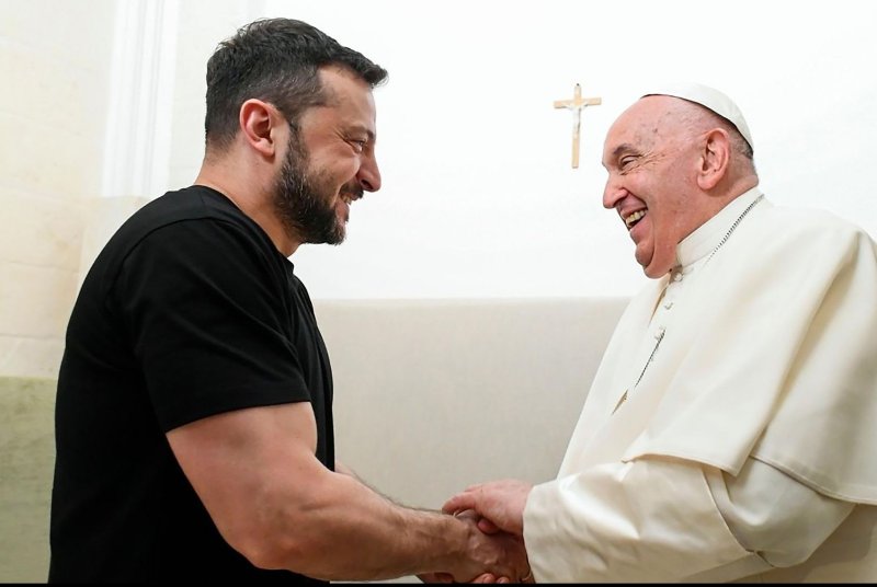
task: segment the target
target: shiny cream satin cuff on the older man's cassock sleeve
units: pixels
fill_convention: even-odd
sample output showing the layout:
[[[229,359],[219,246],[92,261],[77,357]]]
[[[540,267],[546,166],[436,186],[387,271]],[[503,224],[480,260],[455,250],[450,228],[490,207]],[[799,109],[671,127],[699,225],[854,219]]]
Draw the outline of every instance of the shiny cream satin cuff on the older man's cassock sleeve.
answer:
[[[537,485],[524,510],[537,582],[679,582],[750,556],[699,467],[606,464]]]

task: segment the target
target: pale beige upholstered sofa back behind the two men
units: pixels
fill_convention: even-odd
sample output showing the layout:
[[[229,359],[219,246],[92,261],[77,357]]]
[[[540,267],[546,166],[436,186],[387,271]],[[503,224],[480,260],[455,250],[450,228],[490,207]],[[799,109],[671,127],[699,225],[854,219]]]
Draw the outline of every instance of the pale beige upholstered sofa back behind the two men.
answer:
[[[624,298],[317,301],[340,460],[392,499],[554,477]],[[44,583],[55,383],[0,377],[0,583]]]

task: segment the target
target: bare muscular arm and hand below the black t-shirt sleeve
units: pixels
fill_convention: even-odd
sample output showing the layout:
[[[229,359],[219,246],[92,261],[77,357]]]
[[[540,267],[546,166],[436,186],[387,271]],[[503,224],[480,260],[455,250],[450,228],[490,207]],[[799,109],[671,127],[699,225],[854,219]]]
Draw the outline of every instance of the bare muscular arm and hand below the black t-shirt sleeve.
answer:
[[[253,407],[181,426],[168,440],[226,541],[255,566],[322,579],[485,571],[519,576],[523,552],[471,520],[403,508],[315,457],[306,402]]]

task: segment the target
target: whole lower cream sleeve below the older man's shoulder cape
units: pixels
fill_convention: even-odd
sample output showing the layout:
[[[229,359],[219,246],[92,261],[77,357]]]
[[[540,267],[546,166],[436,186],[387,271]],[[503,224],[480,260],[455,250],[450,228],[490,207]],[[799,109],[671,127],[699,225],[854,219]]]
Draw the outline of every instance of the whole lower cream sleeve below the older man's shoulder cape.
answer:
[[[806,561],[852,509],[753,459],[641,460],[539,487],[524,528],[539,580],[713,583]]]

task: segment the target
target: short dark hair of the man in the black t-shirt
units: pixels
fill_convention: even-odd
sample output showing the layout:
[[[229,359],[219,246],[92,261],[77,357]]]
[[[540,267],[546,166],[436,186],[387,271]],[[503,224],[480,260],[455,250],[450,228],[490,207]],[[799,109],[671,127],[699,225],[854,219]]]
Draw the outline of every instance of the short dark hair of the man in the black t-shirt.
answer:
[[[206,143],[225,150],[238,131],[240,106],[252,97],[276,106],[297,129],[304,111],[324,105],[318,76],[340,66],[372,88],[387,71],[319,28],[291,19],[260,19],[223,41],[207,61]]]

